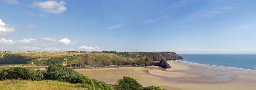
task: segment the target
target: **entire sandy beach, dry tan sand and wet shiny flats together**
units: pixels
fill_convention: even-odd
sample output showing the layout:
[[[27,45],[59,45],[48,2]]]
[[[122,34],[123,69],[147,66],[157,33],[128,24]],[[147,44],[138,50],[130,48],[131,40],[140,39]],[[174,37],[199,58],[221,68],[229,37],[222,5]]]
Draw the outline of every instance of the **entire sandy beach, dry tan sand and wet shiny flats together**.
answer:
[[[81,74],[107,83],[130,76],[144,86],[160,86],[167,90],[254,90],[255,72],[223,67],[210,67],[168,61],[171,69],[160,67],[120,67],[76,69]],[[248,73],[250,72],[250,73]]]

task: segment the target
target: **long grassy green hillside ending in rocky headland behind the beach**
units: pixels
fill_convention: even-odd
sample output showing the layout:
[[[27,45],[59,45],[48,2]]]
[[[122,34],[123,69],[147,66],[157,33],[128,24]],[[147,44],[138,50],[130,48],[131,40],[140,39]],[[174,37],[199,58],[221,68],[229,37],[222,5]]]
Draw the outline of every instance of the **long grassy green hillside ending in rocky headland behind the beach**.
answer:
[[[151,66],[161,60],[183,59],[174,52],[1,52],[0,64],[47,66],[63,64],[67,67],[103,67],[109,65]]]

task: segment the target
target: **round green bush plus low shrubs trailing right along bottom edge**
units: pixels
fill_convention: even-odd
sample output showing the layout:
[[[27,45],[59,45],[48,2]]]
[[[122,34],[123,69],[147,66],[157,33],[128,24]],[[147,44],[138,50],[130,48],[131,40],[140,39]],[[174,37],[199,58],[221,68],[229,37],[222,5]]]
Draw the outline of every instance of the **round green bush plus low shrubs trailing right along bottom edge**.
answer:
[[[143,87],[137,80],[124,76],[123,79],[112,85],[115,90],[163,90],[161,87]]]

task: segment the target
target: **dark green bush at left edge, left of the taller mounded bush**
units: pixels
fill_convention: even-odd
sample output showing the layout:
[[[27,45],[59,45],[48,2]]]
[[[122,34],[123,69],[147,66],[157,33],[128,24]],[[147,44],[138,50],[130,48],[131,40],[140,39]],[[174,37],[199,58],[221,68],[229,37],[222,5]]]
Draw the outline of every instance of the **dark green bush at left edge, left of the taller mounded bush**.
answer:
[[[11,67],[0,70],[0,80],[43,80],[44,71]]]

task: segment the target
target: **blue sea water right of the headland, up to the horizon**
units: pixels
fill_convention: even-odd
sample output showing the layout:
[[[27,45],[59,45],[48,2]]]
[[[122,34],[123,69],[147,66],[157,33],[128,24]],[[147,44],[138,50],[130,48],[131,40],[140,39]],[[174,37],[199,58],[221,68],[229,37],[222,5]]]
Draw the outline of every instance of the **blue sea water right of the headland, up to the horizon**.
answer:
[[[256,54],[180,54],[183,61],[256,70]]]

